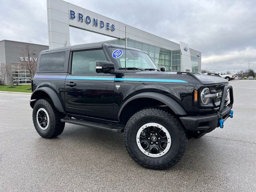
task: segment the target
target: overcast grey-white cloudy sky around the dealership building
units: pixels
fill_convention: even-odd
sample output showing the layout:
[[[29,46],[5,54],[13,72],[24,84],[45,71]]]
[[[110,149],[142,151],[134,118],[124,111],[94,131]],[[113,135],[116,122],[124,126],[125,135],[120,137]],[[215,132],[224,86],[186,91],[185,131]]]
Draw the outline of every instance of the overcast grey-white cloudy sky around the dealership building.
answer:
[[[256,0],[66,0],[202,52],[202,69],[256,70]],[[0,40],[48,45],[46,0],[0,0]],[[72,45],[110,40],[70,28]]]

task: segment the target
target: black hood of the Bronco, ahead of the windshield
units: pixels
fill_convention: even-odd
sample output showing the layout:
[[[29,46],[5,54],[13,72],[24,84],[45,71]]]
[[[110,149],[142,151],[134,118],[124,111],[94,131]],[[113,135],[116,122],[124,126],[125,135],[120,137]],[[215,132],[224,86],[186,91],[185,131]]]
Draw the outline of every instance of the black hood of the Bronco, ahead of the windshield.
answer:
[[[192,84],[221,84],[227,83],[228,81],[224,78],[212,75],[200,75],[192,74],[190,72],[156,72],[156,71],[142,71],[136,72],[133,74],[140,77],[146,78],[156,78],[156,79],[176,79],[176,80],[185,80],[191,82]]]

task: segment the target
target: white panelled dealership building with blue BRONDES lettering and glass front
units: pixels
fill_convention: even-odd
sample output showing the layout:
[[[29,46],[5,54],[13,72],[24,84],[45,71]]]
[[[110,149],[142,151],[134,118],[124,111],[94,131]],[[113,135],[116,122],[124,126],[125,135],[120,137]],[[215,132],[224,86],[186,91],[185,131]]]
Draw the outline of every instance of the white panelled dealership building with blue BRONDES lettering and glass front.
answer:
[[[109,41],[112,44],[143,50],[168,71],[201,71],[201,52],[184,42],[172,42],[62,0],[47,0],[47,15],[50,48],[69,46],[69,28],[74,27],[116,38]]]

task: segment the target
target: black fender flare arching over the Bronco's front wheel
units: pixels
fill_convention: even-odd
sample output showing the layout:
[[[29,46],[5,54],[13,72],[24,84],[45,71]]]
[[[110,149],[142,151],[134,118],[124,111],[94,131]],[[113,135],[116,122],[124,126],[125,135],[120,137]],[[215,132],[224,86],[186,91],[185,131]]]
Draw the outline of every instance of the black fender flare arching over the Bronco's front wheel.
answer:
[[[139,94],[132,96],[126,102],[124,102],[124,104],[121,106],[121,108],[118,112],[118,120],[119,121],[120,121],[120,115],[121,115],[124,107],[132,100],[138,99],[138,98],[152,98],[152,99],[158,100],[158,101],[166,104],[176,115],[187,115],[186,111],[182,108],[182,106],[180,106],[180,104],[178,104],[178,102],[176,102],[174,99],[172,99],[164,94],[160,94],[160,93],[156,93],[156,92],[143,92],[143,93],[139,93]]]

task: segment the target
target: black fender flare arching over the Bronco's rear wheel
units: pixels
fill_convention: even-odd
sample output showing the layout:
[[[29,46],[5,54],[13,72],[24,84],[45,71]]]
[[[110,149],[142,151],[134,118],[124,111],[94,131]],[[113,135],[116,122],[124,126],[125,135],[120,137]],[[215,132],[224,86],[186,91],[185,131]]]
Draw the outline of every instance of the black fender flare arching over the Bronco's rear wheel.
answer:
[[[42,88],[38,88],[36,89],[32,95],[31,95],[31,100],[30,100],[30,106],[34,106],[33,102],[35,102],[37,100],[36,95],[39,91],[43,91],[46,94],[48,94],[48,96],[51,98],[55,108],[59,111],[64,113],[64,108],[62,106],[62,103],[60,101],[60,98],[58,96],[58,94],[50,87],[42,87]],[[32,107],[33,108],[33,107]]]

